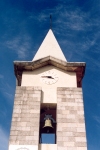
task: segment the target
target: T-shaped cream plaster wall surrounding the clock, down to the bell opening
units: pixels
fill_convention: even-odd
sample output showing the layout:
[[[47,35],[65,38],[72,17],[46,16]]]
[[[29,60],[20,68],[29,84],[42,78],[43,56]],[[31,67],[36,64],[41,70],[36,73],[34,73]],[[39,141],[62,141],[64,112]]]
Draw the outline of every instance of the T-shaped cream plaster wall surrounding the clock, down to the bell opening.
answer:
[[[41,81],[41,74],[46,71],[53,71],[58,76],[58,81],[53,84],[46,84]],[[54,66],[45,66],[34,71],[23,72],[21,86],[41,86],[42,102],[56,103],[57,87],[77,87],[76,73],[65,72]]]

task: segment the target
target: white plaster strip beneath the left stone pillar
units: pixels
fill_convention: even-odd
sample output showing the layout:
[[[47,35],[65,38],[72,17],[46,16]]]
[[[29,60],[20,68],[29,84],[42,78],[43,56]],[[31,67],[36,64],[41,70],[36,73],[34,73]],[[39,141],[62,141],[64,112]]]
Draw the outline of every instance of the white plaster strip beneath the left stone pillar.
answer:
[[[9,150],[38,150],[38,145],[9,145]]]

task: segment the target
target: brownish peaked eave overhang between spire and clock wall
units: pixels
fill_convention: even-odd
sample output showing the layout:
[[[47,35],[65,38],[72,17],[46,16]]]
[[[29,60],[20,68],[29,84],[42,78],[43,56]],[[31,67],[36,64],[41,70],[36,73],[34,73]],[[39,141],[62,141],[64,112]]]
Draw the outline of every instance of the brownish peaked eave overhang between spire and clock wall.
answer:
[[[23,71],[34,71],[35,69],[38,69],[47,65],[53,65],[66,72],[76,72],[77,87],[82,86],[82,78],[85,73],[86,63],[66,62],[66,61],[62,61],[60,59],[54,58],[52,56],[47,56],[45,58],[42,58],[36,61],[14,61],[14,71],[15,71],[15,76],[18,80],[18,86],[21,86]]]

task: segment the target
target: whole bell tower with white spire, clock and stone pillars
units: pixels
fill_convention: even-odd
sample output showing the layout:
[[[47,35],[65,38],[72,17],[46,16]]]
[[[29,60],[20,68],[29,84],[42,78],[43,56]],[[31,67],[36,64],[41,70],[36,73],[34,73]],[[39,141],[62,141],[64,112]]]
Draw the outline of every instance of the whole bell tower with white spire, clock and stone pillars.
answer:
[[[87,150],[84,62],[67,62],[50,29],[32,61],[14,61],[17,79],[9,150]]]

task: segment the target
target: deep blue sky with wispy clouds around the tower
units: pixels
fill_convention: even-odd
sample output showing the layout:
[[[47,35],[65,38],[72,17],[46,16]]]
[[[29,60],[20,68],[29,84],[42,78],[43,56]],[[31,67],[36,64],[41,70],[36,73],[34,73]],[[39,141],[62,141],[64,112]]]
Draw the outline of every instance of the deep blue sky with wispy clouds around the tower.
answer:
[[[68,62],[86,62],[82,88],[88,150],[100,150],[100,0],[0,0],[0,150],[8,150],[16,78],[50,28]]]

